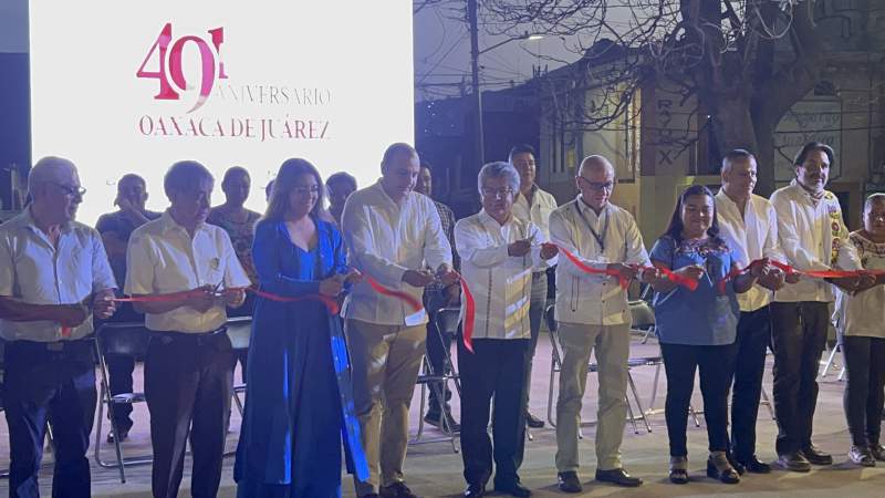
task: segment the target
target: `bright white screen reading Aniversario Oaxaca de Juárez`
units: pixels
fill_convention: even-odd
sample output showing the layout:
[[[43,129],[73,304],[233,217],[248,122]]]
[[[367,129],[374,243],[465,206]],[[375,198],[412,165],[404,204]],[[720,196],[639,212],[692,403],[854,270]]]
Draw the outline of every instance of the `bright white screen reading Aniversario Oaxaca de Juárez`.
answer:
[[[410,0],[30,2],[34,160],[70,158],[88,190],[77,219],[113,211],[116,180],[195,159],[251,173],[247,207],[290,157],[361,187],[384,149],[414,141]]]

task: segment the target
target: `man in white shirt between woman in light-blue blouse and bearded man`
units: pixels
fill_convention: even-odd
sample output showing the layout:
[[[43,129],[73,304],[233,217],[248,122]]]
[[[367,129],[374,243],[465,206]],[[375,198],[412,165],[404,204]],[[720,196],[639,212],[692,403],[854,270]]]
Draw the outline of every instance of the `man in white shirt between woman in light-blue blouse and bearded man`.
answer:
[[[735,149],[722,159],[722,188],[716,195],[719,237],[728,243],[735,261],[746,268],[751,261],[770,258],[784,261],[778,241],[778,215],[768,199],[753,194],[756,157]],[[771,467],[756,457],[756,418],[762,394],[766,350],[771,341],[769,303],[772,291],[784,284],[785,273],[768,264],[762,277],[749,291],[738,294],[738,356],[731,395],[732,465],[756,474],[768,474]],[[798,277],[790,276],[790,281]]]

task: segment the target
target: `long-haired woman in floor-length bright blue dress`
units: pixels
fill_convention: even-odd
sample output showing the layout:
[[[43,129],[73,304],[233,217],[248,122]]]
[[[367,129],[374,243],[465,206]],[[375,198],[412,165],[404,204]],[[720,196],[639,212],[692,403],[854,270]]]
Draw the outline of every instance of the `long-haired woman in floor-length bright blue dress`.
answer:
[[[252,246],[262,291],[335,301],[360,278],[347,272],[341,234],[320,218],[322,185],[304,159],[280,167]],[[259,297],[249,359],[237,496],[340,497],[342,438],[348,468],[367,478],[339,317],[312,298]]]

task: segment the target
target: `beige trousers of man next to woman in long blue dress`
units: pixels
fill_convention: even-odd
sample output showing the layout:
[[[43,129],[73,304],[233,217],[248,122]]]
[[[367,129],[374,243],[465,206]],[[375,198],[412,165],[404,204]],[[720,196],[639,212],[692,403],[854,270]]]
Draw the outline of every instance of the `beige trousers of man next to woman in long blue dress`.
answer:
[[[418,378],[427,326],[378,325],[346,320],[353,394],[369,478],[355,481],[357,496],[403,480],[408,408]]]

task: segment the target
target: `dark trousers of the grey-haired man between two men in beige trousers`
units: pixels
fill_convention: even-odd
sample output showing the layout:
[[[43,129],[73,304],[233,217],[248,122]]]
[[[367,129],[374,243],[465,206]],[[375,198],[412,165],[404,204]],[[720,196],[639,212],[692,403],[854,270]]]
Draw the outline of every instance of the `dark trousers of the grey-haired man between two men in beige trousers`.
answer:
[[[458,369],[461,375],[461,458],[469,484],[488,483],[494,460],[494,483],[519,480],[525,443],[525,355],[528,339],[477,339],[473,353],[458,341]],[[492,440],[488,425],[491,401]]]

